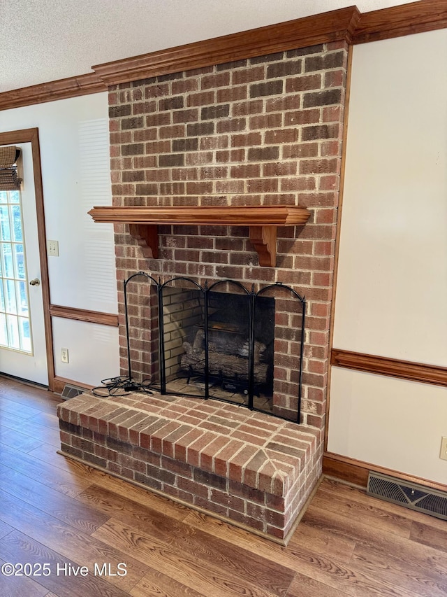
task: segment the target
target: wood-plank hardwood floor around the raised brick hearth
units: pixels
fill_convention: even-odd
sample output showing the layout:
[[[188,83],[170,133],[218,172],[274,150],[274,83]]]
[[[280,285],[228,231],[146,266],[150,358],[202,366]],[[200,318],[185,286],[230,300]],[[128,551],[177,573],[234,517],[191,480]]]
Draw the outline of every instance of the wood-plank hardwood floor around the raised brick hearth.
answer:
[[[447,596],[446,521],[324,479],[281,547],[60,456],[58,402],[0,377],[0,597]]]

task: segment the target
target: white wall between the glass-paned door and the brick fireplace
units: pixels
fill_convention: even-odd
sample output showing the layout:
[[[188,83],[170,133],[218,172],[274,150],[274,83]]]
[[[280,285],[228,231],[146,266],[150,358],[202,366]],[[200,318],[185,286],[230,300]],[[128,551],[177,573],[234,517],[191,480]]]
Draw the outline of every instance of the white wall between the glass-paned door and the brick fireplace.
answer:
[[[0,132],[34,127],[41,145],[47,239],[59,241],[59,257],[48,257],[50,301],[116,314],[112,225],[87,216],[94,205],[112,202],[108,94],[0,111]],[[53,325],[57,375],[96,385],[119,374],[117,328],[62,318],[53,318]],[[68,365],[61,363],[61,347],[69,350]]]

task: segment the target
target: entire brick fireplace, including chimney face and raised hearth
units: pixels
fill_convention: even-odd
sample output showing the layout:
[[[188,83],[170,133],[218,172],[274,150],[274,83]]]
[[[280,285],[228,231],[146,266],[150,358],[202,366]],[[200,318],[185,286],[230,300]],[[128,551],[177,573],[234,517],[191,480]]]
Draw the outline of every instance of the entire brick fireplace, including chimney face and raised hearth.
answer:
[[[240,415],[237,406],[211,400],[197,406],[182,396],[131,396],[106,406],[102,400],[102,410],[90,396],[90,412],[83,398],[61,407],[64,453],[280,540],[286,540],[321,475],[347,55],[346,42],[335,41],[122,83],[109,92],[115,207],[281,205],[311,212],[305,225],[278,227],[274,267],[260,265],[244,225],[163,223],[155,259],[141,229],[116,224],[122,372],[130,354],[135,377],[150,378],[156,359],[158,335],[149,325],[154,299],[145,291],[132,293],[128,304],[127,351],[123,281],[135,272],[162,281],[188,276],[202,285],[220,279],[247,288],[284,283],[307,301],[300,425],[249,411]],[[291,344],[284,342],[275,373],[285,384],[293,382]],[[183,424],[191,423],[196,431],[182,428],[181,433],[179,413],[189,409],[194,415],[190,412]],[[150,416],[165,421],[161,436],[151,428],[155,421],[147,421]],[[221,464],[230,443],[229,423],[219,426],[210,416],[220,421],[247,417],[237,429],[237,441],[244,442],[238,450],[247,450],[245,458],[237,461],[238,450],[228,448],[227,463]],[[117,426],[111,423],[114,417]],[[138,427],[142,422],[144,433]],[[197,433],[214,436],[196,450],[191,437]],[[182,456],[175,461],[177,452]],[[275,469],[281,473],[272,469],[268,482],[264,456],[281,462]],[[163,472],[154,473],[154,461]],[[230,474],[235,461],[237,481]],[[202,479],[200,487],[191,483],[191,491],[180,490],[175,475],[183,478],[179,469],[184,467],[186,478]],[[169,481],[160,475],[170,475]],[[220,503],[213,499],[218,491]],[[246,500],[239,510],[228,505],[237,498]],[[262,507],[253,505],[256,500]],[[280,522],[271,524],[275,516]]]

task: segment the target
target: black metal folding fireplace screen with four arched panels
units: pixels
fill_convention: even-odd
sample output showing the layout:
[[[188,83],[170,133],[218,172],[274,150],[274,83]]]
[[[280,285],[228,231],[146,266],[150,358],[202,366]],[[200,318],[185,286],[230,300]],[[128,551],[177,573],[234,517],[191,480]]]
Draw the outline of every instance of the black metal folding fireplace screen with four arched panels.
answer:
[[[161,283],[133,274],[124,281],[129,379],[132,293],[147,298],[145,325],[158,336],[149,356],[152,388],[300,422],[306,302],[293,288],[274,283],[247,290],[228,279],[200,286],[183,276]]]

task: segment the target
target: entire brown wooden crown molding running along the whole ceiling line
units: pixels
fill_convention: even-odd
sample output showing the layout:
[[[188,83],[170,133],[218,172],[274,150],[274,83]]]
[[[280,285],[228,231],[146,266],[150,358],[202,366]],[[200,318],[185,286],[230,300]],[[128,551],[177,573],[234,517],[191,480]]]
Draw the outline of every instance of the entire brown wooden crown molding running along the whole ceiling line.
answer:
[[[447,0],[360,13],[356,6],[93,66],[95,72],[0,93],[0,110],[108,90],[110,85],[305,48],[380,41],[447,27]]]

